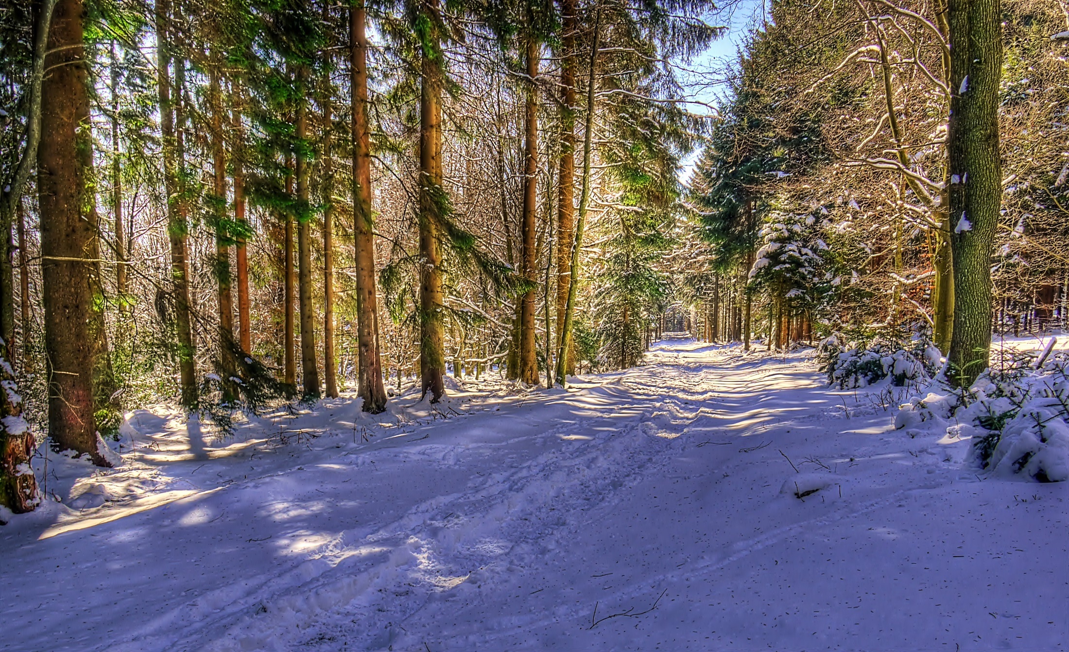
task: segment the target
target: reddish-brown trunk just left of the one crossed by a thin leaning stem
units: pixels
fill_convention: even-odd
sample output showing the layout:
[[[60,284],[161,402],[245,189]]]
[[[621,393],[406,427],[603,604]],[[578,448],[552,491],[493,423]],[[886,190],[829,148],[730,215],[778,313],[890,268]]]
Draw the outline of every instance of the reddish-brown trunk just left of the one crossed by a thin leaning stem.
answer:
[[[521,226],[523,249],[521,261],[524,280],[530,289],[520,304],[520,382],[538,385],[538,356],[534,348],[534,286],[538,284],[536,218],[538,213],[538,80],[539,47],[534,37],[527,38],[527,98],[524,135],[524,213]]]

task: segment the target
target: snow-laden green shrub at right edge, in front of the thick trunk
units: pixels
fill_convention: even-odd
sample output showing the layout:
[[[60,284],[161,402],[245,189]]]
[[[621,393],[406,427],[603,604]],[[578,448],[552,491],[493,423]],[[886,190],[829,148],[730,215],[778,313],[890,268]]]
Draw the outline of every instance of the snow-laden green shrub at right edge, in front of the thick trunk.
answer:
[[[1069,480],[1069,356],[1056,354],[1039,369],[1033,360],[985,373],[967,392],[936,387],[903,405],[895,426],[928,422],[971,439],[970,464],[994,474]]]

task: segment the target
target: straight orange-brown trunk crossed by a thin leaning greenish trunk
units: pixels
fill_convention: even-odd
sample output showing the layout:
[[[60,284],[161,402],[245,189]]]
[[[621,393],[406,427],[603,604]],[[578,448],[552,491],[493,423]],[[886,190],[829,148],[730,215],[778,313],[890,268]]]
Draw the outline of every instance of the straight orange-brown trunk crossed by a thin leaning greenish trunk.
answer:
[[[575,237],[575,0],[561,0],[560,165],[557,175],[557,348],[567,356],[564,367],[575,373],[575,351],[571,340],[561,346],[568,286],[572,279],[572,240]]]

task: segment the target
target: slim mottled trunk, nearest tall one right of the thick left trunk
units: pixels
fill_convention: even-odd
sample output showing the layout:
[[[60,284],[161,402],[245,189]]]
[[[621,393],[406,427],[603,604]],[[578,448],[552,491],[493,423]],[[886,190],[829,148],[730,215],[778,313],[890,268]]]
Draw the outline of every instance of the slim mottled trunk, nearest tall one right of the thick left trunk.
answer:
[[[184,86],[183,65],[175,67],[176,95],[171,98],[170,2],[156,3],[156,83],[159,93],[159,130],[164,154],[164,189],[167,192],[167,237],[171,249],[171,293],[174,299],[174,322],[177,335],[179,371],[182,383],[182,405],[197,406],[196,352],[189,324],[189,281],[186,266],[186,237],[189,232],[182,192],[180,166],[184,166],[181,133],[175,133],[175,105],[181,106]],[[181,120],[179,121],[181,127]]]

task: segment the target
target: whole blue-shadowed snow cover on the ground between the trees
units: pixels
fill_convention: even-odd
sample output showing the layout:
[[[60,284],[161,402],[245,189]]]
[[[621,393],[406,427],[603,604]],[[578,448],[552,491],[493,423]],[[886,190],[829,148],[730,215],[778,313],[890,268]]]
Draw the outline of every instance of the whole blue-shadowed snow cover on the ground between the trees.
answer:
[[[1065,649],[1069,485],[978,475],[808,355],[666,340],[221,441],[133,413],[124,466],[51,455],[64,502],[0,528],[0,650]]]

